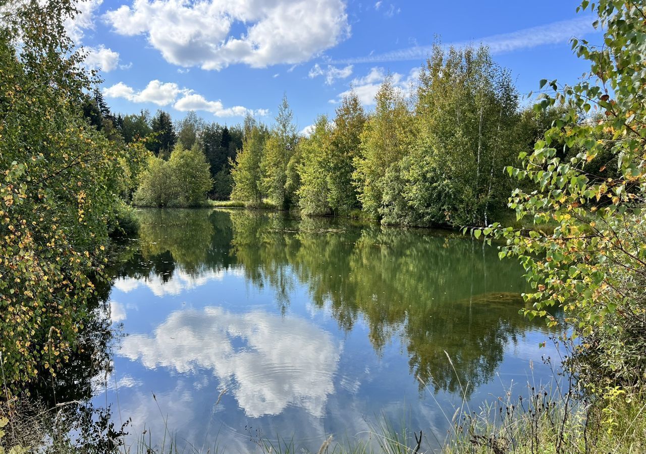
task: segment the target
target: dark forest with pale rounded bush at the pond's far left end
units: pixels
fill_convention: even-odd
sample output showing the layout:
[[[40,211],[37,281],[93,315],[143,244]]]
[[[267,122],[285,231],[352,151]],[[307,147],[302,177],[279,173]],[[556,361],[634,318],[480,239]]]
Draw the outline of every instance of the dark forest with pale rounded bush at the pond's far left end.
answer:
[[[163,110],[154,116],[148,110],[115,115],[99,90],[86,100],[83,112],[112,140],[124,144],[141,141],[151,152],[140,191],[134,194],[137,205],[194,206],[206,196],[227,200],[231,195],[231,161],[242,148],[242,127],[207,123],[195,112],[176,122]],[[174,154],[182,156],[173,158]],[[187,168],[183,163],[190,165]]]

